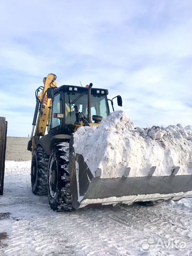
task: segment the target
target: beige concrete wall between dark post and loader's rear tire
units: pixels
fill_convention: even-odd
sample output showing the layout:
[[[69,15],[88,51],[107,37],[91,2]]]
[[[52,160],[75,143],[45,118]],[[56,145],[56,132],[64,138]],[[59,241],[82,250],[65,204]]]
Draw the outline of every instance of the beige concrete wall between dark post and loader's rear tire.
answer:
[[[7,137],[6,160],[28,161],[31,160],[31,152],[27,150],[30,138]]]

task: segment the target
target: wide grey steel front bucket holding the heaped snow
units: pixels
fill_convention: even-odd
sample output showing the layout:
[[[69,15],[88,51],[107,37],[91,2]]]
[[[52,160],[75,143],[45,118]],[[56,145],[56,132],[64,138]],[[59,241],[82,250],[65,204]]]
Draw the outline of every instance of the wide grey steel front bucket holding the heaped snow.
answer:
[[[88,204],[132,204],[141,201],[178,201],[192,197],[192,174],[177,175],[176,167],[169,176],[153,176],[155,166],[147,176],[101,178],[101,170],[93,175],[83,155],[75,154],[70,141],[70,186],[75,209]]]

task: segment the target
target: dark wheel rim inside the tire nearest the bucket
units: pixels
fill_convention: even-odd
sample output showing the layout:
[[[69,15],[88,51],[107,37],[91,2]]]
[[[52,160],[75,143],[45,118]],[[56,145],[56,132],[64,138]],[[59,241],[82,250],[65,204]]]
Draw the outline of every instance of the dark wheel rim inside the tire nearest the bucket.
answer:
[[[50,166],[50,175],[49,175],[49,190],[52,197],[55,197],[57,190],[57,164],[56,161],[53,161]]]

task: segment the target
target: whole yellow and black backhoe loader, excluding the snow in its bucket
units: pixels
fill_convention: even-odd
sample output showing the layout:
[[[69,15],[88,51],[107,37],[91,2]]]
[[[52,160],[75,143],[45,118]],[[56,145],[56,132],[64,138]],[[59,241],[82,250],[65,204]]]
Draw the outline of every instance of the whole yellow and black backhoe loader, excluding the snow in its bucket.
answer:
[[[192,175],[175,175],[177,168],[173,175],[158,177],[153,176],[154,168],[144,177],[129,177],[127,173],[122,177],[102,178],[100,170],[92,174],[83,155],[74,150],[73,135],[82,126],[99,127],[101,120],[110,114],[108,102],[114,110],[113,100],[117,98],[122,106],[121,96],[110,100],[108,90],[94,88],[92,83],[86,87],[57,87],[55,80],[55,74],[48,74],[43,79],[44,85],[36,90],[33,128],[27,146],[32,152],[32,192],[48,193],[51,209],[72,211],[94,203],[176,200],[192,191]]]

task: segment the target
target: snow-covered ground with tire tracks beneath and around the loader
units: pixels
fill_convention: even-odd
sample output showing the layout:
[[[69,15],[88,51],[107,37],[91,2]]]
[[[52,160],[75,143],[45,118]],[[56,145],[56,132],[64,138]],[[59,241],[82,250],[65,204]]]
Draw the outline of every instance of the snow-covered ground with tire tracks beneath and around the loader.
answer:
[[[0,256],[192,255],[192,199],[155,207],[54,212],[30,186],[30,161],[6,161]]]

